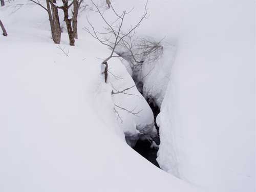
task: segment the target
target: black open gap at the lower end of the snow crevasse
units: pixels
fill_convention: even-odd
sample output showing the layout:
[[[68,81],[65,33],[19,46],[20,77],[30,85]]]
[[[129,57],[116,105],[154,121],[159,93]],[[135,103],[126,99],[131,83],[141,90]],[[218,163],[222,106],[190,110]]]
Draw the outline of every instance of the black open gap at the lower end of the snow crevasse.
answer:
[[[160,168],[158,162],[157,162],[157,152],[158,152],[158,147],[153,146],[153,141],[159,145],[160,144],[160,139],[159,139],[159,127],[157,126],[156,123],[156,117],[160,113],[160,109],[158,106],[155,104],[153,99],[146,99],[147,103],[150,105],[153,114],[154,114],[154,119],[155,119],[155,126],[157,129],[157,137],[155,138],[140,138],[136,145],[133,147],[133,149],[138,152],[141,156],[143,156],[145,159],[156,165],[157,167]],[[153,139],[153,140],[152,140]]]

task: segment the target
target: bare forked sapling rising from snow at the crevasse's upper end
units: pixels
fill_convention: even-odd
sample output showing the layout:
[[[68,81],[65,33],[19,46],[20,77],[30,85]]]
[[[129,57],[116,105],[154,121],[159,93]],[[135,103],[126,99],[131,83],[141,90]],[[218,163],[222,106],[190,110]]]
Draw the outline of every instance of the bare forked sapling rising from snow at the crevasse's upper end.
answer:
[[[103,13],[100,11],[99,6],[96,5],[93,0],[91,0],[91,2],[93,3],[94,7],[96,8],[95,11],[99,13],[102,20],[104,21],[104,23],[105,23],[104,29],[106,30],[106,32],[102,33],[102,32],[96,31],[95,27],[91,24],[91,22],[89,21],[88,18],[87,18],[87,20],[88,20],[88,23],[89,23],[91,29],[84,27],[84,30],[86,30],[88,33],[90,33],[101,44],[108,46],[112,50],[109,57],[105,58],[102,62],[102,65],[105,65],[105,69],[104,69],[104,72],[102,72],[102,74],[105,75],[105,82],[106,82],[108,79],[108,61],[112,57],[114,57],[113,55],[115,53],[115,49],[118,45],[120,45],[120,43],[123,41],[123,39],[125,39],[127,36],[133,34],[135,29],[140,26],[142,20],[146,18],[147,2],[145,4],[145,11],[144,11],[143,15],[141,16],[141,18],[138,20],[138,22],[134,26],[131,26],[125,32],[123,31],[124,18],[127,14],[130,14],[132,10],[131,11],[123,11],[122,14],[118,14],[115,11],[115,9],[113,8],[112,4],[109,4],[116,16],[116,19],[112,23],[110,23],[106,20]]]

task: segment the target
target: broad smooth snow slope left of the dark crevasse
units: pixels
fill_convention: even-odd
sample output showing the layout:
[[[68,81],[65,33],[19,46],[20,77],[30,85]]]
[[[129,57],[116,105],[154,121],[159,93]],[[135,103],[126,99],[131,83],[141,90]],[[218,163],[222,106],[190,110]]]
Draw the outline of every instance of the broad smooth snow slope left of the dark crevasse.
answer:
[[[81,31],[69,47],[64,33],[67,57],[44,10],[12,9],[0,8],[0,191],[199,191],[125,143],[97,59],[109,50]]]

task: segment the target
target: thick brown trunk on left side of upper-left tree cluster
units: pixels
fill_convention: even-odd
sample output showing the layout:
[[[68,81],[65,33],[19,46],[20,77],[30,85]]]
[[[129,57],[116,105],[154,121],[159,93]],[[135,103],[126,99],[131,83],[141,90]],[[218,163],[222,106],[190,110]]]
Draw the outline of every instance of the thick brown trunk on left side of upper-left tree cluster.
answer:
[[[56,3],[56,0],[53,0],[53,3]],[[55,42],[55,44],[59,44],[60,36],[61,36],[61,30],[60,30],[60,24],[59,24],[59,13],[58,13],[58,8],[53,3],[51,3],[53,31],[54,31],[53,41]]]

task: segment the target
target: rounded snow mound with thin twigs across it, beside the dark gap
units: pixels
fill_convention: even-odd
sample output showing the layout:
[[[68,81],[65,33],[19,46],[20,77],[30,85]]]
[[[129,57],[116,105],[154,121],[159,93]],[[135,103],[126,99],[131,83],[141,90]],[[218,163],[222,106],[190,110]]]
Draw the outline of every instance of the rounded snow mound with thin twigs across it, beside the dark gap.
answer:
[[[127,73],[125,67],[118,58],[110,62],[109,83],[114,93],[124,89],[125,94],[113,94],[115,103],[115,116],[120,127],[122,127],[127,142],[134,146],[140,135],[156,137],[154,116],[150,106],[144,97],[138,92],[132,77]],[[128,110],[129,112],[127,112]]]

